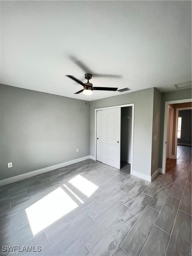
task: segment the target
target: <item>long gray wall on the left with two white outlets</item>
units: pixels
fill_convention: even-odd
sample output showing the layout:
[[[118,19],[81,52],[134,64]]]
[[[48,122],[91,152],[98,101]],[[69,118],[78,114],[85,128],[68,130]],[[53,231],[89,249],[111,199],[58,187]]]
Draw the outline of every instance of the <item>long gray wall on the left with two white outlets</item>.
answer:
[[[89,155],[85,101],[7,85],[0,91],[0,180]]]

